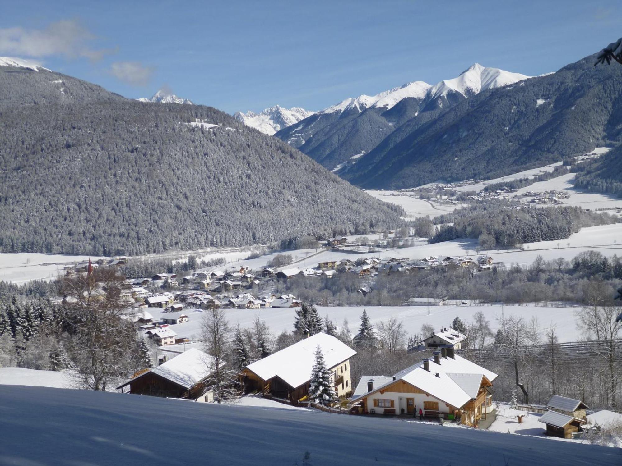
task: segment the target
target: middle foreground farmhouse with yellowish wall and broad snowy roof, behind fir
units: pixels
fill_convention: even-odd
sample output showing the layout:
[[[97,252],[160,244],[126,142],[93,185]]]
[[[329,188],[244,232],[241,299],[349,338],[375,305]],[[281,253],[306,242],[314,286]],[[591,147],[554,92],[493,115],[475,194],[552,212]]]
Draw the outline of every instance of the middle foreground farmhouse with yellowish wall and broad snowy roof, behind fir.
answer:
[[[314,354],[318,346],[332,372],[337,395],[345,396],[352,390],[350,358],[356,351],[322,332],[246,366],[242,370],[245,391],[261,390],[264,396],[285,398],[292,404],[304,400],[309,394]]]

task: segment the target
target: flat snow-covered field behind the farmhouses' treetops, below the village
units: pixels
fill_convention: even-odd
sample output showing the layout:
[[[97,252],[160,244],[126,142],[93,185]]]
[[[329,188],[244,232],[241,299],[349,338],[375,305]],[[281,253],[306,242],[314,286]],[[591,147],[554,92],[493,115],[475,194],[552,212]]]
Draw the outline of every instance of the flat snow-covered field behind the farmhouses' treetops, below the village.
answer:
[[[422,324],[430,324],[440,329],[448,327],[452,320],[459,316],[463,321],[473,320],[473,314],[482,311],[486,319],[490,320],[493,331],[498,328],[497,319],[503,310],[504,316],[510,314],[521,316],[529,321],[532,317],[537,317],[544,334],[544,329],[550,326],[550,322],[557,324],[557,333],[560,342],[575,341],[580,336],[577,331],[577,320],[575,311],[581,308],[549,308],[528,304],[526,306],[430,306],[428,314],[427,306],[317,306],[320,316],[328,314],[335,324],[341,326],[343,319],[348,319],[350,331],[353,334],[358,332],[360,316],[363,309],[369,314],[372,324],[378,324],[394,317],[404,322],[404,327],[408,334],[419,333]],[[190,339],[198,338],[201,334],[201,321],[204,311],[184,311],[190,320],[182,324],[170,326],[178,336]],[[294,329],[294,308],[274,308],[274,309],[226,309],[226,318],[231,325],[238,322],[241,327],[251,327],[253,320],[259,316],[266,321],[271,332],[277,336],[282,331],[292,331]],[[155,317],[155,315],[154,315]],[[183,350],[179,349],[179,350]]]

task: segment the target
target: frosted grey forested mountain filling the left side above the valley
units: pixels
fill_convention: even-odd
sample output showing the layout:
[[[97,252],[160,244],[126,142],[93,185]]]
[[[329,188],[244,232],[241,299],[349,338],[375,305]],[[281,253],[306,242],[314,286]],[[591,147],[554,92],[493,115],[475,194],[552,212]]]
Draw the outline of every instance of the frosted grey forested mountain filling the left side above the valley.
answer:
[[[44,70],[2,67],[0,89],[2,252],[134,255],[401,223],[211,107],[144,104]]]

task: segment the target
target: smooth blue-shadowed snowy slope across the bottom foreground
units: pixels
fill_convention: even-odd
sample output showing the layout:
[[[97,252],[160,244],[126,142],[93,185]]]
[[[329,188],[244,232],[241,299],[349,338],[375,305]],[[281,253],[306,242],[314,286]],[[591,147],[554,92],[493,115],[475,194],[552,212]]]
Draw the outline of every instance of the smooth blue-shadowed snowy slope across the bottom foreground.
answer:
[[[305,452],[314,466],[622,462],[618,449],[476,429],[81,390],[0,386],[0,412],[3,464],[294,465]]]

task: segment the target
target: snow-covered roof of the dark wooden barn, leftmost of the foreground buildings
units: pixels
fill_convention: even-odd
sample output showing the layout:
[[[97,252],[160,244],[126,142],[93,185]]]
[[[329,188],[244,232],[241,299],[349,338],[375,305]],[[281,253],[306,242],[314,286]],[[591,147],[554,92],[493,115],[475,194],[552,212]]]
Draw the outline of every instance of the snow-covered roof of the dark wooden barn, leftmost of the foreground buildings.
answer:
[[[123,385],[118,386],[117,389],[128,385],[128,383],[137,378],[144,377],[144,375],[149,372],[153,372],[160,377],[177,383],[177,385],[181,385],[183,388],[190,388],[195,385],[195,383],[210,375],[213,371],[213,367],[214,360],[210,355],[196,348],[191,348],[179,356],[175,356],[173,359],[168,360],[164,364],[144,372],[132,380],[126,381]]]

